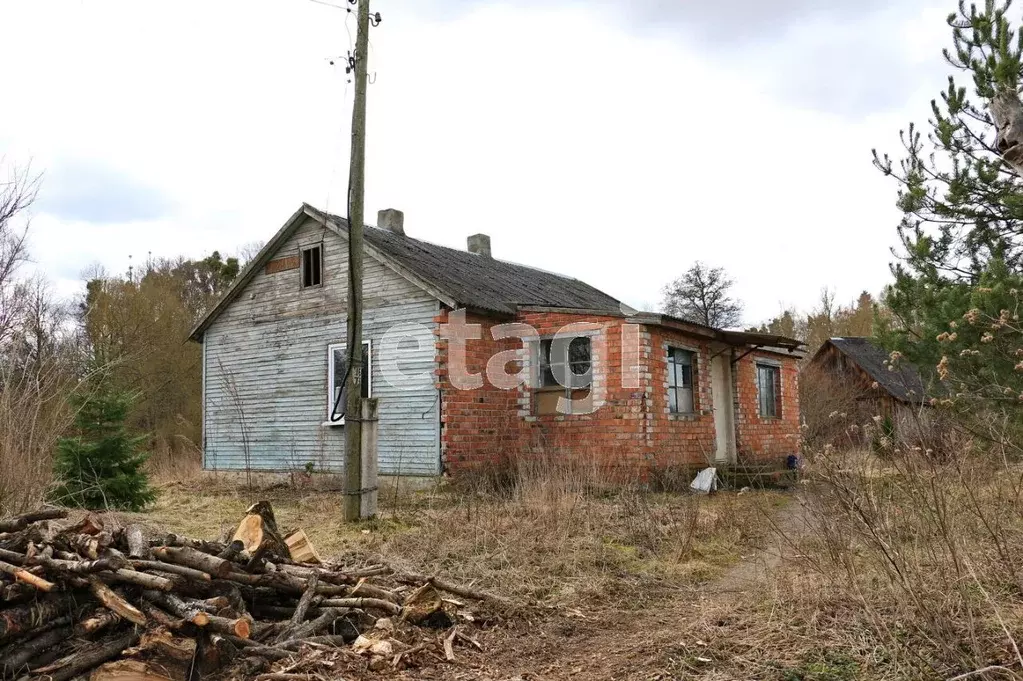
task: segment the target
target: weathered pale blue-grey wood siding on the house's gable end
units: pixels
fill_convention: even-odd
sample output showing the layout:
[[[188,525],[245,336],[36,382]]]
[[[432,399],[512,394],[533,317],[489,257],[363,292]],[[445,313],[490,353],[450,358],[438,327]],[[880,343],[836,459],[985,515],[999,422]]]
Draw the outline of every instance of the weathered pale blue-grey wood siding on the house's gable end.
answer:
[[[344,427],[325,426],[327,346],[345,342],[347,243],[309,220],[277,251],[297,255],[322,241],[323,285],[300,288],[300,270],[258,272],[204,336],[204,465],[288,470],[313,462],[344,467]],[[389,385],[380,339],[396,324],[436,324],[439,303],[374,259],[364,259],[363,337],[372,342],[372,393],[380,398],[380,469],[440,471],[437,390]],[[433,344],[402,346],[405,372],[436,368]]]

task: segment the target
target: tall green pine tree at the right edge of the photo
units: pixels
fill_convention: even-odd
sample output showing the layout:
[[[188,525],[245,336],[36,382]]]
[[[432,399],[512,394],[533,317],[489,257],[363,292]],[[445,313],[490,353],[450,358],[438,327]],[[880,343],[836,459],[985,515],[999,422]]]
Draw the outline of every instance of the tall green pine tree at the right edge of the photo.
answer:
[[[931,102],[926,143],[910,125],[898,165],[874,152],[875,165],[899,183],[904,214],[895,282],[884,297],[890,314],[878,320],[878,334],[945,378],[950,396],[1019,405],[1023,181],[1003,156],[991,104],[1019,102],[1023,34],[1010,20],[1011,0],[982,4],[961,1],[947,19],[945,60],[972,79],[972,91],[949,77]]]

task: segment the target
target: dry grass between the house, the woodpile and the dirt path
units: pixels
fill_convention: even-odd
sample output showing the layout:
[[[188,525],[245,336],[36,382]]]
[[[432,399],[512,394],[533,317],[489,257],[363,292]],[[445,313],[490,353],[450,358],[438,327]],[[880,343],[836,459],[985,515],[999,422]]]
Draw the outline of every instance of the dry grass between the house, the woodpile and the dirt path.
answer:
[[[209,478],[161,486],[141,517],[216,537],[256,499],[273,503],[282,528],[304,528],[324,555],[380,555],[523,601],[602,607],[635,606],[712,579],[762,544],[764,508],[787,501],[771,492],[646,493],[597,470],[539,464],[498,491],[384,490],[380,517],[354,527],[341,521],[336,491],[277,484],[250,492]]]

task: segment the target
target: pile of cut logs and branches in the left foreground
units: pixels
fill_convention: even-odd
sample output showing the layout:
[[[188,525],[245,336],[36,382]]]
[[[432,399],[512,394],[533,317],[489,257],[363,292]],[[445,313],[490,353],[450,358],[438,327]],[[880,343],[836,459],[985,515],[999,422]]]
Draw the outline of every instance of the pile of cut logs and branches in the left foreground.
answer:
[[[508,607],[435,576],[321,560],[304,532],[282,536],[266,502],[229,542],[66,517],[0,519],[4,678],[315,678],[343,672],[339,660],[398,669],[453,660],[455,642],[479,647],[459,598]]]

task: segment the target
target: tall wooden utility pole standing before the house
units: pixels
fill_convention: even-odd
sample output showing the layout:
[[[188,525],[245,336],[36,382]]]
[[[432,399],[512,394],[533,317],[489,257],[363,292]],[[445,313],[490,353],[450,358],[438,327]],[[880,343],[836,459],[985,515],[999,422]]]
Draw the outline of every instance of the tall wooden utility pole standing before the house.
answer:
[[[366,67],[369,0],[358,2],[355,105],[348,195],[348,376],[345,388],[345,520],[358,520],[362,503],[362,226],[366,190]]]

